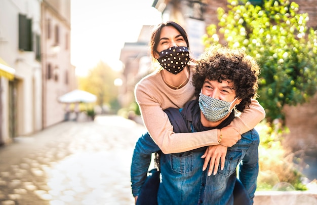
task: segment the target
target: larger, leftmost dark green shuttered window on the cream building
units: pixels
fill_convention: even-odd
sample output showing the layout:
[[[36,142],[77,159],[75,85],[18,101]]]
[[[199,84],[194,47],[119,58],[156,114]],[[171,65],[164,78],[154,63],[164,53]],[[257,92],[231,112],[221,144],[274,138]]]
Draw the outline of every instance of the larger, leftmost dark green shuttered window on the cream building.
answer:
[[[32,51],[32,19],[19,14],[19,49]]]

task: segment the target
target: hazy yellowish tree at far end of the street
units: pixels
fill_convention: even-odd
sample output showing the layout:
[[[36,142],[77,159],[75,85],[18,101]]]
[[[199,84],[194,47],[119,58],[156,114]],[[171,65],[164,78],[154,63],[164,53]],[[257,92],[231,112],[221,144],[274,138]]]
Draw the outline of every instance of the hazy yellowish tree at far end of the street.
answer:
[[[78,82],[80,89],[97,96],[96,103],[101,108],[107,105],[116,111],[118,109],[118,88],[114,85],[114,80],[118,77],[120,77],[120,73],[100,61],[89,70],[87,76],[80,77]]]

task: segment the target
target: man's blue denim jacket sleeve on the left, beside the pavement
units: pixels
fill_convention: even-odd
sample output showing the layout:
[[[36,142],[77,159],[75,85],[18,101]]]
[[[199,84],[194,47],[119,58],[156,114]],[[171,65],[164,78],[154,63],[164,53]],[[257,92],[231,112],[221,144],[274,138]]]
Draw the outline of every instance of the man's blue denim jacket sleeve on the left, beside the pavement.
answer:
[[[131,163],[131,188],[133,196],[139,195],[146,179],[151,162],[151,154],[159,150],[160,148],[148,133],[143,134],[136,142]]]

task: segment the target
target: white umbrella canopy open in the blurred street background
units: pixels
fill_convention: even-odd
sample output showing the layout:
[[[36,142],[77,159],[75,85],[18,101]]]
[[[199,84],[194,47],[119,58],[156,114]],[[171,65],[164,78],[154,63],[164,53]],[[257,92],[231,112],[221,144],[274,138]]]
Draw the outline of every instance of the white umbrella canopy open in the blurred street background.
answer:
[[[89,92],[76,89],[60,96],[58,100],[62,103],[76,103],[76,102],[92,103],[92,102],[96,102],[97,96]]]

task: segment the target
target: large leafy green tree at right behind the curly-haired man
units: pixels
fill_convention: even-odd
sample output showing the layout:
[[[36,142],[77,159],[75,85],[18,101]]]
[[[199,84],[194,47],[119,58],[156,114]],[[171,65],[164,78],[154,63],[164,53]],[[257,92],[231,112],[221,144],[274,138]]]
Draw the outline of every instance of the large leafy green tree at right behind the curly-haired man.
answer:
[[[204,36],[206,46],[227,44],[255,57],[261,66],[258,94],[269,122],[284,119],[285,104],[307,102],[316,91],[317,31],[306,26],[308,14],[285,0],[264,0],[259,6],[228,0],[218,8],[218,25]]]

